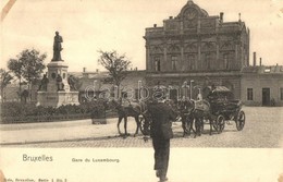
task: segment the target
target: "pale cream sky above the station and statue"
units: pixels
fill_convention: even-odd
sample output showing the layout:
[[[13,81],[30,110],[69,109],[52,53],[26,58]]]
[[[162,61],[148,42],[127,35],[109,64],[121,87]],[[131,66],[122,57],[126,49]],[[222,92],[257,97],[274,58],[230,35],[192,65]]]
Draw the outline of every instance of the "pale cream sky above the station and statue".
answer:
[[[8,0],[1,0],[1,9]],[[224,22],[241,20],[250,29],[253,52],[264,65],[283,65],[283,0],[194,0],[209,15],[224,12]],[[187,0],[17,0],[1,22],[0,68],[24,49],[52,59],[54,32],[63,37],[62,59],[69,72],[102,70],[98,50],[125,54],[133,68],[146,69],[146,27],[163,26]],[[251,62],[251,61],[250,61]],[[258,61],[259,62],[259,61]]]

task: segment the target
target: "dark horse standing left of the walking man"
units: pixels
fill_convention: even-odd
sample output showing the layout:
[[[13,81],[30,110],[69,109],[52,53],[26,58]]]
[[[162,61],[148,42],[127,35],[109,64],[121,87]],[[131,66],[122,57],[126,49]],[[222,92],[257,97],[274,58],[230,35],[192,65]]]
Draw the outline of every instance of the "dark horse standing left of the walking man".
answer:
[[[110,100],[109,106],[113,106],[116,111],[118,111],[118,132],[119,135],[121,136],[128,136],[130,134],[127,133],[127,117],[133,117],[136,121],[136,132],[134,134],[134,137],[138,134],[138,129],[140,128],[139,123],[139,116],[143,114],[146,110],[146,105],[144,102],[131,102],[130,100],[128,105],[122,105],[122,102],[119,102],[116,100]],[[122,122],[122,119],[124,119],[124,131],[125,133],[122,134],[120,130],[120,123]]]

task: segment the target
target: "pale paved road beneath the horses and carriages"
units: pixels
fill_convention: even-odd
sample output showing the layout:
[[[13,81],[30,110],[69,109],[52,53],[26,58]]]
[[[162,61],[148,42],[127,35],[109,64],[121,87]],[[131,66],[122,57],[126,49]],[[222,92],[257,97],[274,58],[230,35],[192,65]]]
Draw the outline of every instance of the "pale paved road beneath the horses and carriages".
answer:
[[[171,142],[172,147],[245,147],[245,148],[279,148],[283,147],[283,108],[268,107],[244,107],[246,113],[246,124],[243,131],[237,131],[235,123],[225,125],[221,134],[213,133],[209,135],[209,125],[205,125],[205,133],[197,137],[183,137],[181,123],[173,123],[174,138]],[[128,132],[131,136],[123,138],[116,135],[115,121],[111,120],[106,125],[91,125],[91,123],[82,122],[79,124],[64,125],[56,124],[40,129],[40,125],[35,124],[33,129],[22,131],[22,136],[26,133],[39,136],[52,135],[64,131],[59,137],[73,134],[73,137],[66,139],[46,139],[27,142],[21,145],[3,145],[9,147],[151,147],[151,142],[145,143],[142,134],[134,137],[135,122],[133,119],[128,121]],[[20,129],[13,131],[9,126],[2,128],[7,134],[14,132],[17,136],[21,134]],[[39,128],[39,129],[38,129]],[[123,124],[121,124],[121,129]],[[26,131],[23,132],[23,131]],[[37,131],[37,132],[36,132]],[[32,132],[32,133],[30,133]],[[39,133],[38,133],[39,132]],[[74,133],[75,132],[75,133]],[[62,133],[62,132],[61,132]],[[76,137],[81,136],[79,138]],[[83,135],[83,136],[82,136]],[[48,136],[46,136],[48,137]],[[9,138],[8,138],[9,139]]]

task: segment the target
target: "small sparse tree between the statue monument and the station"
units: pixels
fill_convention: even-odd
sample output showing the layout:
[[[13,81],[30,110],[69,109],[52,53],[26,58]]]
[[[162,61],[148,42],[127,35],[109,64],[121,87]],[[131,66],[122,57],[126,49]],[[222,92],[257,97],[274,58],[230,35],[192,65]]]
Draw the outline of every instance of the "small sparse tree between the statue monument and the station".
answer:
[[[126,77],[126,71],[131,65],[131,61],[125,57],[125,54],[120,56],[115,50],[99,50],[98,52],[100,53],[98,63],[109,71],[109,75],[112,77],[113,84],[118,86],[118,97],[120,97],[120,85]]]

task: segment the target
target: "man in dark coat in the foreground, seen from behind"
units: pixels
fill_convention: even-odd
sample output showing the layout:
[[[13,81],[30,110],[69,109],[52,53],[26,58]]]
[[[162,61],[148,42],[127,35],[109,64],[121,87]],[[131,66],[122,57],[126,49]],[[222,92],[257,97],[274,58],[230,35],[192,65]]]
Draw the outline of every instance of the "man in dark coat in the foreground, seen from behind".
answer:
[[[155,170],[160,182],[167,181],[167,171],[170,155],[170,139],[173,137],[172,123],[176,113],[172,108],[156,99],[148,105],[148,112],[151,116],[150,137],[155,149]]]

